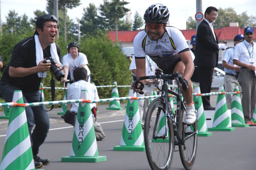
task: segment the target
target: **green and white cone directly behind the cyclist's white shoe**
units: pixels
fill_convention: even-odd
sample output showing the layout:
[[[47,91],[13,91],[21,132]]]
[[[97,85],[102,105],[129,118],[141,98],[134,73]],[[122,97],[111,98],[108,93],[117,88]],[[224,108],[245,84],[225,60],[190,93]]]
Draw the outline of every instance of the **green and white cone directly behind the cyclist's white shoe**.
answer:
[[[196,86],[194,93],[201,94],[200,87]],[[207,131],[206,117],[204,115],[204,109],[202,104],[202,97],[200,95],[196,95],[193,98],[195,109],[197,110],[197,130],[198,136],[213,136],[212,132]]]

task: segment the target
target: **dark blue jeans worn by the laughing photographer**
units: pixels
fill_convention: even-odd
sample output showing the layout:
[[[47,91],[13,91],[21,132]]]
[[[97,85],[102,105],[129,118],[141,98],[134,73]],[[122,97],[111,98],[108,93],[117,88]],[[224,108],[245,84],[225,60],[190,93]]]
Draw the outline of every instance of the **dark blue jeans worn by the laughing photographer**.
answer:
[[[12,102],[14,90],[21,90],[18,86],[11,86],[8,83],[0,84],[2,96],[6,102]],[[21,90],[22,91],[22,90]],[[26,93],[22,91],[24,103],[40,102],[40,91]],[[46,110],[45,106],[43,109]],[[25,107],[28,131],[31,136],[31,144],[33,155],[37,155],[40,145],[45,141],[49,131],[50,121],[46,111],[42,110],[41,106]],[[31,130],[34,127],[33,133]]]

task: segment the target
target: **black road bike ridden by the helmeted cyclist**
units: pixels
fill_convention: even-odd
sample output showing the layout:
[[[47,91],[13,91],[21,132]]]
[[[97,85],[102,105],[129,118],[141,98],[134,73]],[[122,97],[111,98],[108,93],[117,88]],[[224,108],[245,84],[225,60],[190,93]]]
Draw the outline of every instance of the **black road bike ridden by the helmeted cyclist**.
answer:
[[[159,70],[154,76],[134,75],[135,87],[140,80],[145,79],[162,80],[160,85],[155,84],[161,97],[149,104],[144,124],[144,142],[149,165],[153,170],[170,169],[175,146],[178,145],[181,162],[189,170],[196,158],[197,120],[191,125],[184,123],[186,108],[180,92],[182,75],[178,72],[163,74]],[[168,89],[167,79],[176,80],[177,92]],[[177,97],[176,111],[171,107],[168,93]]]

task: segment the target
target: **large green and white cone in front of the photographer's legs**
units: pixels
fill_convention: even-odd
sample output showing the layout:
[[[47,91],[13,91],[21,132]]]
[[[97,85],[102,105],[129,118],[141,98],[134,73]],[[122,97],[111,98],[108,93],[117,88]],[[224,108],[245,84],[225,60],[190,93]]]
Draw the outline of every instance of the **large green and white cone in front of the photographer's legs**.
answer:
[[[23,103],[22,92],[15,90],[13,102]],[[35,169],[26,111],[23,106],[13,106],[6,132],[0,170]]]

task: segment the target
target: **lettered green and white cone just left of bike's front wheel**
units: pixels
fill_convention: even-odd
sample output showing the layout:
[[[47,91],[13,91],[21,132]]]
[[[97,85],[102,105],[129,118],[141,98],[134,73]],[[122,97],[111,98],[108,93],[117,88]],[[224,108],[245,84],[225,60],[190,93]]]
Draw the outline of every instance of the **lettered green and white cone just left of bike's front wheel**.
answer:
[[[130,89],[129,96],[136,97]],[[126,114],[120,145],[114,147],[115,151],[145,151],[144,136],[140,121],[138,102],[135,99],[127,102]]]

